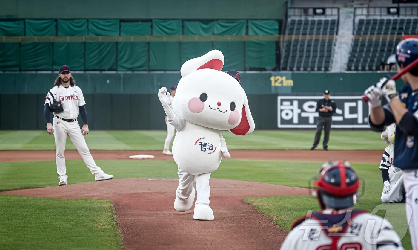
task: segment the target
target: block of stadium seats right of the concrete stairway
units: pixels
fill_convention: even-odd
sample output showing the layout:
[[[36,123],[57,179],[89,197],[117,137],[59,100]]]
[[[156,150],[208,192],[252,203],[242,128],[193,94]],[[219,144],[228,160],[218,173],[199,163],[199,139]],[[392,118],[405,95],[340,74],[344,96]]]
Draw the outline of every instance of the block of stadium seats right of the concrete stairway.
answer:
[[[418,18],[359,19],[347,70],[379,70],[402,36],[409,34],[418,34]]]

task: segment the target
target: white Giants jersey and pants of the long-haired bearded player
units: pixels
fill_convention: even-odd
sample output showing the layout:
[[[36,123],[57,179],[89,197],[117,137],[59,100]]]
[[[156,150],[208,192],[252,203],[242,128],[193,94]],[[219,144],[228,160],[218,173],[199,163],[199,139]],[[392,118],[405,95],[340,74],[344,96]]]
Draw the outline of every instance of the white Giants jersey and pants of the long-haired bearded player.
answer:
[[[70,137],[71,142],[76,146],[79,154],[82,156],[84,163],[90,169],[90,172],[95,176],[103,173],[93,160],[90,154],[89,148],[87,147],[86,141],[81,133],[78,122],[76,121],[79,115],[79,106],[86,104],[82,90],[74,85],[65,88],[61,85],[55,86],[49,90],[46,95],[45,104],[49,106],[54,101],[61,101],[64,111],[61,113],[54,113],[54,137],[55,137],[55,152],[56,152],[56,170],[59,175],[59,179],[67,179],[66,168],[65,168],[65,142],[67,135]],[[72,119],[73,122],[67,122],[56,118],[56,116],[63,119]]]

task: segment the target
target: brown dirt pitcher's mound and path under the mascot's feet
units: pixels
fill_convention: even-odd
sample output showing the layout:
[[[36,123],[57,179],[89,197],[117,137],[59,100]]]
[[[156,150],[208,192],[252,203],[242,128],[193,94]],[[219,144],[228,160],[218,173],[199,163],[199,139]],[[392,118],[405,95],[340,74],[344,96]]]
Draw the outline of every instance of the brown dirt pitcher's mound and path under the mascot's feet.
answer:
[[[178,180],[115,179],[0,192],[20,196],[106,198],[115,206],[124,249],[278,249],[286,232],[244,197],[307,195],[304,188],[211,179],[214,221],[173,208]],[[193,209],[194,207],[192,207]]]

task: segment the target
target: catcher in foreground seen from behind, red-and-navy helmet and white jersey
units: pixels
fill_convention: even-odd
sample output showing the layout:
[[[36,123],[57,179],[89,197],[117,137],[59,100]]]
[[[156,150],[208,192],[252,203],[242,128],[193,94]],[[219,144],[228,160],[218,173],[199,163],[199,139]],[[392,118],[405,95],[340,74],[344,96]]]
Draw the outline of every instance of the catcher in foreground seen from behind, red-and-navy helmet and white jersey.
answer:
[[[322,211],[296,220],[281,250],[403,250],[386,219],[352,209],[360,183],[348,162],[325,163],[314,185]]]

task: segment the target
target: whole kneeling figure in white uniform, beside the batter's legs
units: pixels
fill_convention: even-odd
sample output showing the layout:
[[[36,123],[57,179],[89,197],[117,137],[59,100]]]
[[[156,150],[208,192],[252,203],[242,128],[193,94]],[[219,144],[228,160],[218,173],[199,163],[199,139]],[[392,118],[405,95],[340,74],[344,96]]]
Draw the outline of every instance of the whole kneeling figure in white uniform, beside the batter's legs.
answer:
[[[384,203],[401,202],[405,196],[402,170],[393,165],[395,129],[396,124],[393,123],[390,126],[387,126],[381,135],[382,140],[384,140],[387,144],[390,144],[385,148],[385,152],[383,153],[379,166],[382,171],[383,178],[383,191],[381,199]]]

